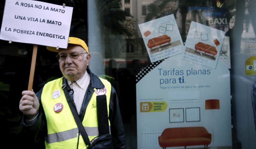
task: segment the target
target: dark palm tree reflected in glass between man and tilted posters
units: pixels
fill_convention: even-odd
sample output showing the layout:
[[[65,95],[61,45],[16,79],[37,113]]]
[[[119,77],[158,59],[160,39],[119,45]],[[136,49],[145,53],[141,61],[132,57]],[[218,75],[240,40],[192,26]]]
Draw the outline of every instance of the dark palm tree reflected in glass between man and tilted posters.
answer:
[[[96,5],[100,24],[104,27],[101,31],[107,50],[105,57],[118,57],[118,45],[123,44],[122,39],[134,35],[134,18],[122,10],[121,0],[97,0]]]

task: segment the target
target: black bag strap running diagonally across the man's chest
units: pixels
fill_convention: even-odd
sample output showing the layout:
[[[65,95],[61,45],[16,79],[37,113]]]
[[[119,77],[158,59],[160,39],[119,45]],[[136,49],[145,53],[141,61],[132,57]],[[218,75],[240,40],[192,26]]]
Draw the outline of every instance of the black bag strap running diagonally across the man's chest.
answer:
[[[86,131],[85,131],[83,125],[82,125],[82,122],[81,122],[81,120],[80,120],[80,118],[78,116],[78,113],[77,113],[77,111],[76,111],[76,109],[75,109],[75,107],[74,107],[74,105],[72,103],[72,96],[70,96],[70,95],[73,94],[73,90],[68,85],[66,85],[67,84],[67,80],[64,77],[62,79],[62,84],[63,84],[62,85],[62,89],[63,89],[63,91],[65,93],[65,96],[66,96],[66,99],[67,99],[67,103],[68,103],[69,108],[70,108],[70,110],[71,110],[71,112],[73,114],[73,117],[75,119],[75,123],[77,124],[78,130],[79,130],[79,132],[82,135],[84,143],[86,145],[89,145],[90,144],[90,140],[88,138],[88,135],[87,135],[87,133],[86,133]]]

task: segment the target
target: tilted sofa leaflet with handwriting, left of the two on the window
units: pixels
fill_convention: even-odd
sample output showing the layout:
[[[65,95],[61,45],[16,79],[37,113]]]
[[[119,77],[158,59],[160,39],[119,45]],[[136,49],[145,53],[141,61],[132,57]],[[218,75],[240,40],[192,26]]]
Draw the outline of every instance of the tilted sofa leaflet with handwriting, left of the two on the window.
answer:
[[[182,53],[184,47],[174,15],[139,25],[151,63]]]

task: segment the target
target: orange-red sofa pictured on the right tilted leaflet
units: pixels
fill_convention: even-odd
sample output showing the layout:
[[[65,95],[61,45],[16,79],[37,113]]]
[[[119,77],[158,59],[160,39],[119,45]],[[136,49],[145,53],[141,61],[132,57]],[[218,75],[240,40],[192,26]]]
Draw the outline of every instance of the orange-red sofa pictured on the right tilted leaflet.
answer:
[[[195,50],[199,50],[199,52],[204,53],[204,54],[208,53],[208,54],[212,55],[213,58],[216,58],[216,55],[218,53],[216,47],[208,45],[206,43],[202,43],[202,42],[198,42],[195,45]]]

